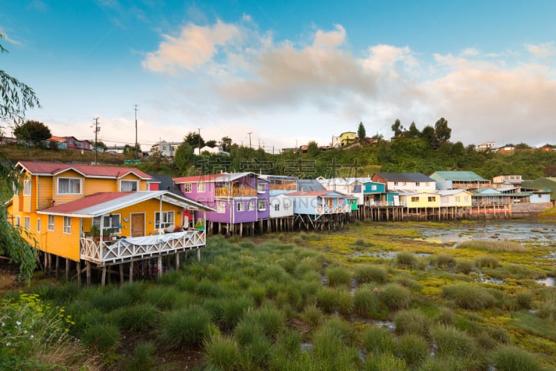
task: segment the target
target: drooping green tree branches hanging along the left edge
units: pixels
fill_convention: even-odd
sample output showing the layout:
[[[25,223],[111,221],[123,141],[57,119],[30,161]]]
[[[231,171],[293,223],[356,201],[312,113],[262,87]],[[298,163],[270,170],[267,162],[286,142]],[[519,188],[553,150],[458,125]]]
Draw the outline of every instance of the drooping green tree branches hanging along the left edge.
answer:
[[[4,36],[0,34],[0,38]],[[0,44],[0,53],[7,50]],[[38,107],[40,103],[33,89],[26,84],[0,70],[0,120],[12,121],[16,126],[23,122],[28,108]],[[0,136],[1,136],[0,127]],[[0,153],[0,190],[11,192],[21,188],[19,172]],[[10,261],[19,264],[19,278],[24,277],[31,283],[35,269],[35,250],[25,238],[21,227],[8,222],[8,210],[4,202],[0,202],[0,254],[8,254]],[[36,243],[36,242],[35,242]]]

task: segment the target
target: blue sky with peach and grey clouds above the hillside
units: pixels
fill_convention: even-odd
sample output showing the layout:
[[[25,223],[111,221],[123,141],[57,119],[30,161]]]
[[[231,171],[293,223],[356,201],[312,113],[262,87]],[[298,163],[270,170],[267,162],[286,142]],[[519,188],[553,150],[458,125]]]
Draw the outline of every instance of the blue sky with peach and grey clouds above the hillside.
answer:
[[[556,144],[556,1],[0,0],[0,69],[53,135],[228,136],[266,151],[444,117],[452,142]],[[137,105],[137,106],[136,106]],[[135,110],[137,108],[137,110]],[[136,132],[137,119],[137,132]],[[10,128],[4,131],[10,135]]]

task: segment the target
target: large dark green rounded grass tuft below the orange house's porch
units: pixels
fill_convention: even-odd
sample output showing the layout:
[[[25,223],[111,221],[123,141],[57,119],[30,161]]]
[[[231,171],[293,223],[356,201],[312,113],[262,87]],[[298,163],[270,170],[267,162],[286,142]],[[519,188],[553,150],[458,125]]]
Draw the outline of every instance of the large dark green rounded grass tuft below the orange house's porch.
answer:
[[[159,338],[172,349],[196,347],[215,333],[211,315],[195,306],[164,313],[160,320]]]

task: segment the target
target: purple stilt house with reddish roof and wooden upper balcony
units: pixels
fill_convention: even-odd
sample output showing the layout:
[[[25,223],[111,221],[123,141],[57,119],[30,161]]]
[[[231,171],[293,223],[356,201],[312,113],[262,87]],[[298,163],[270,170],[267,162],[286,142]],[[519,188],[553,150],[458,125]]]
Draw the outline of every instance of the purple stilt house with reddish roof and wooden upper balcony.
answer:
[[[206,220],[226,224],[257,222],[270,217],[268,181],[253,172],[174,178],[188,199],[210,206]]]

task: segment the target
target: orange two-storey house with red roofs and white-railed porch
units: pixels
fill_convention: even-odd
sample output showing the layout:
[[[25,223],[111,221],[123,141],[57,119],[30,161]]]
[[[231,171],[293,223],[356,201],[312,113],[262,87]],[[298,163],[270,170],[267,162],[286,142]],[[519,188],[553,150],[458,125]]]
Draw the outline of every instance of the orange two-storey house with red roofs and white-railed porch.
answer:
[[[178,254],[205,245],[204,228],[190,229],[191,211],[213,211],[167,190],[129,167],[22,161],[22,190],[8,217],[47,254],[99,267]]]

